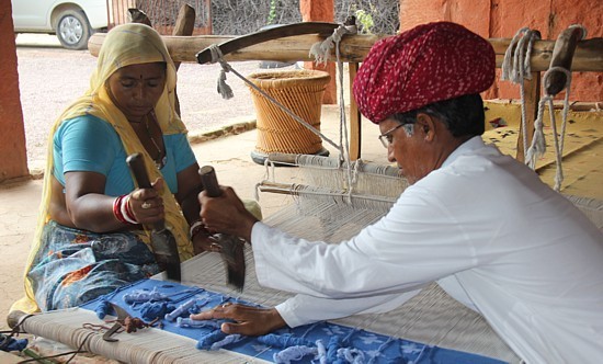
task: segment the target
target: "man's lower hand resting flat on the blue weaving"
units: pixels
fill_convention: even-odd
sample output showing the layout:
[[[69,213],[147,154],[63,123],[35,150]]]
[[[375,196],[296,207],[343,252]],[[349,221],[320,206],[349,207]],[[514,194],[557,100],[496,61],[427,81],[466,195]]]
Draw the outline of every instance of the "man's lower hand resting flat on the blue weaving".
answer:
[[[231,319],[235,322],[225,322],[220,329],[225,333],[240,333],[244,335],[261,335],[286,326],[275,308],[260,308],[239,304],[226,303],[216,308],[191,315],[193,320]]]

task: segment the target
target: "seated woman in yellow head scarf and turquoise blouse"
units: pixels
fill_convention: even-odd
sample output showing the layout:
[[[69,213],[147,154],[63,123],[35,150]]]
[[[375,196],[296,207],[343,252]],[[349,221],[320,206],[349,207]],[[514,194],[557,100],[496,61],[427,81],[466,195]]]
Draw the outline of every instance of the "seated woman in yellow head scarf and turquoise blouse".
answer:
[[[143,24],[113,29],[90,89],[50,134],[41,217],[26,265],[26,297],[11,310],[81,305],[159,272],[141,224],[164,219],[181,261],[209,247],[198,221],[198,164],[174,109],[175,68]],[[137,189],[125,159],[143,156],[152,189]]]

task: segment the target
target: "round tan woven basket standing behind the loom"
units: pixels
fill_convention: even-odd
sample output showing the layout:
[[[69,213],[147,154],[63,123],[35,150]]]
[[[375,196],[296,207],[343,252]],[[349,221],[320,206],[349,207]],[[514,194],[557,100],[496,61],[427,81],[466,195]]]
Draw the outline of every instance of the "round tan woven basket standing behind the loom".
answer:
[[[255,72],[248,77],[262,91],[285,105],[295,115],[320,130],[320,112],[327,72],[287,70]],[[250,87],[257,113],[255,151],[314,155],[322,150],[320,137],[287,115],[272,101]]]

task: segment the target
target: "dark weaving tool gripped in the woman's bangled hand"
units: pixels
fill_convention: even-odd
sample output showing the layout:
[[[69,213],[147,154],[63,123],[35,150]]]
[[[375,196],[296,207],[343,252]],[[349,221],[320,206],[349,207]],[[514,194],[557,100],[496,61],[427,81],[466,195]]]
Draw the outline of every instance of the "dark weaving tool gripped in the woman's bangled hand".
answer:
[[[126,158],[126,163],[128,164],[138,187],[151,189],[143,156],[139,153],[130,155]],[[172,232],[166,228],[164,220],[157,221],[152,225],[150,240],[152,252],[159,268],[168,273],[169,280],[180,282],[181,272],[178,244]]]

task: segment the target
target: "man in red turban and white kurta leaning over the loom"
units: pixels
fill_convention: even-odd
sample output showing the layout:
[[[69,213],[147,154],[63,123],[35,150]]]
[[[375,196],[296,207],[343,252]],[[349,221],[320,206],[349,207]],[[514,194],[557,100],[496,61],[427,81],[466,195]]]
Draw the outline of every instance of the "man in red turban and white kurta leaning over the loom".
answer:
[[[490,44],[460,25],[431,23],[377,42],[354,96],[412,185],[383,219],[339,244],[258,221],[231,189],[218,198],[202,193],[206,226],[251,243],[260,284],[298,295],[271,309],[230,305],[195,318],[232,318],[224,331],[261,334],[392,309],[436,281],[528,363],[600,361],[603,236],[532,170],[485,145],[479,92],[493,78]]]

